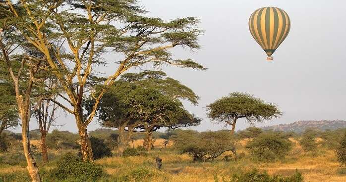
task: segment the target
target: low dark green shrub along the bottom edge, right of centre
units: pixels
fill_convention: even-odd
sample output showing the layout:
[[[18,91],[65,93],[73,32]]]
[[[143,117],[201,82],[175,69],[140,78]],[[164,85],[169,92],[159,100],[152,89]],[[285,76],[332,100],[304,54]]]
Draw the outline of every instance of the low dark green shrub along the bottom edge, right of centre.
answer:
[[[215,182],[219,179],[214,178]],[[298,170],[290,177],[270,176],[266,172],[261,173],[258,170],[252,170],[240,175],[234,174],[230,181],[224,180],[223,182],[303,182],[303,177]]]

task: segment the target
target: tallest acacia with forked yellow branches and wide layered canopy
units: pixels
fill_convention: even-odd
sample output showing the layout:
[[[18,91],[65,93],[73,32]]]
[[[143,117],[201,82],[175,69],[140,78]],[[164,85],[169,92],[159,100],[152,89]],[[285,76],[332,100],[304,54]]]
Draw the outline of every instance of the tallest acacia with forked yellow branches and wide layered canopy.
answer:
[[[27,42],[44,53],[49,66],[63,88],[62,102],[56,102],[75,117],[81,139],[83,161],[93,161],[87,127],[92,122],[105,91],[116,78],[131,67],[152,63],[205,69],[191,59],[174,60],[173,47],[198,49],[198,36],[203,32],[195,17],[165,21],[144,16],[145,10],[136,0],[1,0],[4,9],[17,22],[15,28]],[[24,9],[19,15],[15,6]],[[45,31],[50,28],[50,34]],[[60,54],[62,47],[51,44],[61,40],[69,54]],[[108,53],[116,56],[105,59]],[[57,60],[57,61],[55,61]],[[114,72],[99,79],[98,65],[116,62]],[[102,84],[95,90],[95,84]],[[83,109],[83,98],[93,96],[91,112]],[[97,96],[95,96],[97,95]]]

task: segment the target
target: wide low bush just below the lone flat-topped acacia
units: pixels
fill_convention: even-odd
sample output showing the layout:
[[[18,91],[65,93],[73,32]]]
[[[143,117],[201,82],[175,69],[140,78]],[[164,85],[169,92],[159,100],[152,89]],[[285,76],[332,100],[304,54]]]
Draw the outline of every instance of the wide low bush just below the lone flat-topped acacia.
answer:
[[[188,153],[196,160],[215,159],[234,149],[234,139],[227,131],[201,132],[180,131],[172,137],[173,147],[180,153]]]

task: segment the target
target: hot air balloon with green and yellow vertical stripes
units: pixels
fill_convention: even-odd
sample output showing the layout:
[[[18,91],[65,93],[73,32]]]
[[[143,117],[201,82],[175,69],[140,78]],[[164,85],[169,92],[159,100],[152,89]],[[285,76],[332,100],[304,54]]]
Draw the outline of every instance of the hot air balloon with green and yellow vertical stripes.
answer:
[[[254,11],[249,19],[252,37],[267,53],[267,60],[283,43],[290,29],[288,14],[277,7],[262,7]]]

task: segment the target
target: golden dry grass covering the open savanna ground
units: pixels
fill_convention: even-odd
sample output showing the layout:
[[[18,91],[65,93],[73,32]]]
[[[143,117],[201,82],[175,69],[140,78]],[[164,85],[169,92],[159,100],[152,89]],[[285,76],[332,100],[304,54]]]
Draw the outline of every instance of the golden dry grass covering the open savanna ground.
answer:
[[[97,164],[105,167],[110,175],[125,175],[137,168],[150,169],[154,171],[154,178],[143,178],[143,182],[214,182],[214,176],[229,177],[235,171],[246,171],[257,168],[265,170],[269,174],[288,176],[298,169],[303,174],[305,182],[346,182],[346,176],[338,175],[336,170],[339,164],[336,161],[333,150],[320,149],[316,155],[304,154],[296,140],[290,138],[294,146],[290,155],[283,161],[275,163],[257,163],[248,157],[236,161],[223,161],[223,154],[213,162],[193,163],[191,157],[179,154],[171,147],[164,148],[163,140],[158,139],[155,149],[146,155],[135,157],[110,157],[96,160]],[[37,144],[37,141],[33,141]],[[237,145],[238,152],[244,152],[246,140]],[[134,141],[134,147],[141,145],[142,140]],[[132,142],[129,143],[132,147]],[[50,151],[53,152],[53,151]],[[59,152],[59,151],[58,151]],[[155,157],[163,159],[162,170],[156,170]],[[24,166],[2,166],[0,174],[13,173],[13,171],[25,171]]]

